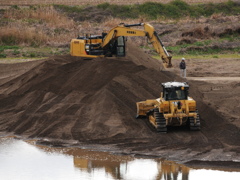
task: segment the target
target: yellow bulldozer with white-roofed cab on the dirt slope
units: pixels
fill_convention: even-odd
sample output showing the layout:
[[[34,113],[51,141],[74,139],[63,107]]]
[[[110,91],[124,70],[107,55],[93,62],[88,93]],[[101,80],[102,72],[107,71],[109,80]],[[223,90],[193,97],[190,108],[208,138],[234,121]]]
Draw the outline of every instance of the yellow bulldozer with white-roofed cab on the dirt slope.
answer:
[[[147,117],[158,132],[167,132],[168,126],[188,125],[200,130],[196,101],[188,96],[186,82],[162,83],[160,98],[137,102],[137,118]]]

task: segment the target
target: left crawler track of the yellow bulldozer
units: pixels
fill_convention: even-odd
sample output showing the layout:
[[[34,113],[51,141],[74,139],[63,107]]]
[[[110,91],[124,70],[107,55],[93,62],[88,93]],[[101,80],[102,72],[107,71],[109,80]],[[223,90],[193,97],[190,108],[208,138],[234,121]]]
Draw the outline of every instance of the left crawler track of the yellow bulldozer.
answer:
[[[163,114],[159,112],[156,108],[153,110],[153,115],[156,120],[156,129],[158,132],[166,133],[167,126],[166,126],[166,119],[164,118]]]

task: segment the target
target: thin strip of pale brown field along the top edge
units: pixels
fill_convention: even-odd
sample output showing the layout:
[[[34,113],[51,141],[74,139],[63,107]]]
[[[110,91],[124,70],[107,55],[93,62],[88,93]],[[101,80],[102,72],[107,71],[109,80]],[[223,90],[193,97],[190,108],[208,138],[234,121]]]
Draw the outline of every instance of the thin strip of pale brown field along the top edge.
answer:
[[[151,0],[151,2],[169,3],[172,0]],[[189,4],[195,3],[220,3],[228,0],[184,0]],[[64,5],[96,5],[101,3],[110,4],[142,4],[149,0],[0,0],[0,5],[41,5],[41,4],[64,4]]]

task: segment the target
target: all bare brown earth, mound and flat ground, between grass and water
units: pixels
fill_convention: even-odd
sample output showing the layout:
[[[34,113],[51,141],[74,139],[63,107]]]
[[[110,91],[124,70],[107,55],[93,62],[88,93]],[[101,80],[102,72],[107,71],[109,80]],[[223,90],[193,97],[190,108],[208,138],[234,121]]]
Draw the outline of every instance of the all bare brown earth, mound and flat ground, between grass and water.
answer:
[[[177,60],[174,65],[165,71],[161,62],[131,46],[126,58],[54,56],[0,64],[0,131],[46,145],[179,162],[240,162],[240,59],[187,60],[186,80],[178,76]],[[135,119],[135,103],[157,98],[161,83],[174,80],[189,82],[201,131],[174,127],[161,134]]]

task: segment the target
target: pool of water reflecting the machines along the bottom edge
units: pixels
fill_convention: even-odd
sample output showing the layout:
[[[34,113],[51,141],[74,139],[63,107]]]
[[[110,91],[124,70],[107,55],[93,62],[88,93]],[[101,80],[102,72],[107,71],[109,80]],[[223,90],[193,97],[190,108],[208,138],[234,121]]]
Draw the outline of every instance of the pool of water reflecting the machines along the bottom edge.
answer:
[[[35,141],[0,138],[3,180],[240,179],[238,171],[193,169],[172,161],[113,155],[79,148],[50,148]]]

